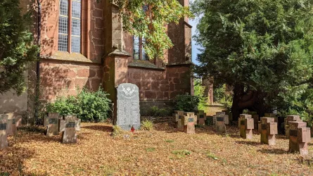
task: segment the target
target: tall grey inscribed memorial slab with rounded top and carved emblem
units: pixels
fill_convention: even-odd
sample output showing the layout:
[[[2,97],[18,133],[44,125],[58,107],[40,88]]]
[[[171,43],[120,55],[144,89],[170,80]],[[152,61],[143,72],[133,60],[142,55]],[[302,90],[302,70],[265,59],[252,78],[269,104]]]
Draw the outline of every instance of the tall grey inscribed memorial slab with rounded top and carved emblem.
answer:
[[[140,127],[139,89],[135,84],[124,83],[117,87],[117,121],[123,130]]]

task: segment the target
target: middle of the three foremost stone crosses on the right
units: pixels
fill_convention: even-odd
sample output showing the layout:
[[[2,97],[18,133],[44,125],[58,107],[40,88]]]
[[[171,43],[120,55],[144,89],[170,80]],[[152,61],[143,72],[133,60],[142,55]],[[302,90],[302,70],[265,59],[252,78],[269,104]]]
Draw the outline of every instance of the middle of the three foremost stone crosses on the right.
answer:
[[[261,118],[261,144],[275,145],[275,135],[278,134],[274,118]]]

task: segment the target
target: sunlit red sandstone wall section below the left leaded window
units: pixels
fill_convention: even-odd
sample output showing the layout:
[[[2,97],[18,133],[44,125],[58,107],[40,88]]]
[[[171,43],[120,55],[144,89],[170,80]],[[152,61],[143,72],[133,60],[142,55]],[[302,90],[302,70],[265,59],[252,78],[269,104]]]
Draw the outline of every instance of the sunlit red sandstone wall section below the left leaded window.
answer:
[[[56,96],[77,94],[77,88],[96,91],[102,82],[102,66],[53,61],[40,64],[41,100],[53,101]]]

